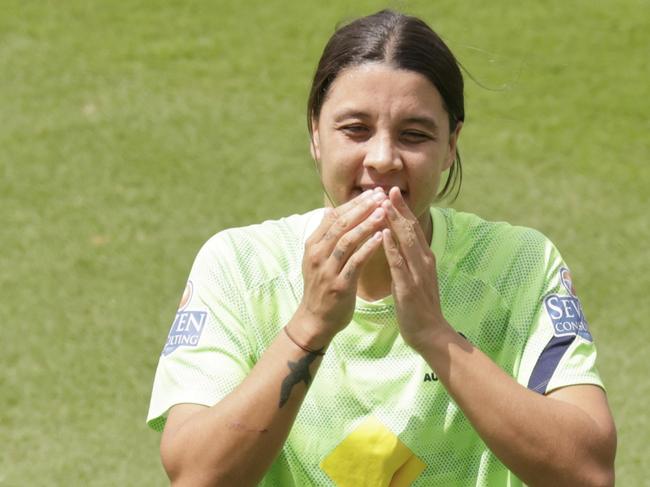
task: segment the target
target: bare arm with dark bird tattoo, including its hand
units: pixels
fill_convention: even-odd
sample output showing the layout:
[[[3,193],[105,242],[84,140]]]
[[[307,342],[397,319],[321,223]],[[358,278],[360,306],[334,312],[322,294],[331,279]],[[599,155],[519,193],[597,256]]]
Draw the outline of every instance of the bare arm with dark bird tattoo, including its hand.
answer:
[[[254,485],[284,444],[324,348],[352,319],[359,273],[381,244],[383,191],[325,212],[305,243],[303,298],[246,379],[212,408],[165,426],[161,454],[178,485]],[[373,238],[370,238],[373,237]],[[185,416],[185,414],[187,414]]]

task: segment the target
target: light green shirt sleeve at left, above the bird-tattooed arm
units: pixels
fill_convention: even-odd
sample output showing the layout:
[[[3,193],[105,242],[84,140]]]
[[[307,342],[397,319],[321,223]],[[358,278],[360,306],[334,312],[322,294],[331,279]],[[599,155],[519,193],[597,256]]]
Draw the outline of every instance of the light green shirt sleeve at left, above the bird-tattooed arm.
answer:
[[[213,406],[254,365],[233,259],[228,240],[217,234],[194,261],[154,378],[147,424],[157,431],[172,406]]]

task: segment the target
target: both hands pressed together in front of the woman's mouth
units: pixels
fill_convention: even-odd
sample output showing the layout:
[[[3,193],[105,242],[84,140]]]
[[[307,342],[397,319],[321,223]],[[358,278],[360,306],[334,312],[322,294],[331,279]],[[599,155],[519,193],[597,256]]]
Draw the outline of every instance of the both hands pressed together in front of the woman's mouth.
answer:
[[[394,186],[386,194],[379,187],[327,208],[305,244],[304,294],[296,313],[311,329],[314,350],[324,350],[352,319],[361,272],[380,247],[404,341],[416,351],[424,349],[432,335],[449,328],[428,238],[401,190]]]

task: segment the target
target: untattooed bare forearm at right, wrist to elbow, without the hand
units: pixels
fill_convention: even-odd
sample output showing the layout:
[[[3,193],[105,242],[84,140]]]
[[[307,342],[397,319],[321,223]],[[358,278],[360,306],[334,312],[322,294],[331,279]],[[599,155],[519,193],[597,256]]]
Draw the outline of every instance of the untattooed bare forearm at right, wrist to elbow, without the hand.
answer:
[[[606,428],[574,404],[518,384],[451,327],[418,347],[494,454],[528,485],[608,485]]]

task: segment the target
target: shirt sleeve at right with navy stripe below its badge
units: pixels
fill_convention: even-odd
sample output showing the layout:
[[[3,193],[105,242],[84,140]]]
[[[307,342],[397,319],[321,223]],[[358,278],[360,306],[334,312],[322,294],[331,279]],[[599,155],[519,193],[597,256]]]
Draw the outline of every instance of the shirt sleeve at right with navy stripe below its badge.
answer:
[[[596,346],[571,272],[548,240],[544,252],[544,280],[536,286],[542,292],[536,298],[517,380],[540,394],[577,384],[604,389],[596,369]]]

